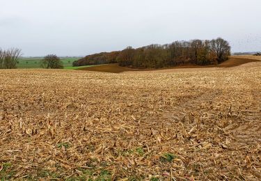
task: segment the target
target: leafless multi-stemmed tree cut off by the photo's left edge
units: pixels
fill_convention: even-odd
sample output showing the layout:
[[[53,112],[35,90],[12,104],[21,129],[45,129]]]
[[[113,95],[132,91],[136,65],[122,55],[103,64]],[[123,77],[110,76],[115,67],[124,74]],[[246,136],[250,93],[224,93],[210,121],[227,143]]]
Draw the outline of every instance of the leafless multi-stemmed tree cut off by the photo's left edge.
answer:
[[[21,49],[11,48],[7,50],[0,49],[0,68],[16,68],[18,58],[21,56]]]

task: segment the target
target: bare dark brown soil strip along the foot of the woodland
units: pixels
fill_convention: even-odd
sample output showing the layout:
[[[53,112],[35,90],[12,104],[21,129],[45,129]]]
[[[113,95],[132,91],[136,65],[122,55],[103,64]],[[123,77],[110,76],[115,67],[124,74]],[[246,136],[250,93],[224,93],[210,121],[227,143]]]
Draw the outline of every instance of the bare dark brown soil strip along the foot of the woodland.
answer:
[[[200,66],[200,65],[180,65],[173,68],[166,68],[166,69],[132,69],[132,68],[126,68],[121,67],[118,64],[107,64],[107,65],[99,65],[89,68],[80,68],[77,70],[88,70],[88,71],[94,71],[94,72],[110,72],[110,73],[121,73],[121,72],[133,72],[133,71],[153,71],[153,70],[177,70],[177,69],[191,69],[191,68],[231,68],[238,65],[243,65],[245,63],[252,63],[252,62],[258,62],[260,60],[258,59],[248,59],[248,58],[234,58],[231,57],[228,61],[225,61],[221,63],[220,65],[206,65],[206,66]],[[161,71],[162,72],[162,71]]]

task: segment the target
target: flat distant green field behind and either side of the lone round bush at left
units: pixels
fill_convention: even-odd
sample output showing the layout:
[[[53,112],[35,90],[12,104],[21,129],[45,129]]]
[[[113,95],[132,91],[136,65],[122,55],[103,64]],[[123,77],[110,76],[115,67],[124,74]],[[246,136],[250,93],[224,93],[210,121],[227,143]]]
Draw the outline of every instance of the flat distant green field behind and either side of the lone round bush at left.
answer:
[[[17,68],[41,68],[41,66],[40,66],[41,60],[42,60],[41,57],[39,57],[39,58],[19,58],[19,63],[17,63]],[[77,60],[79,60],[79,57],[61,58],[61,61],[63,61],[63,67],[65,69],[77,69],[77,67],[72,67],[72,63]]]

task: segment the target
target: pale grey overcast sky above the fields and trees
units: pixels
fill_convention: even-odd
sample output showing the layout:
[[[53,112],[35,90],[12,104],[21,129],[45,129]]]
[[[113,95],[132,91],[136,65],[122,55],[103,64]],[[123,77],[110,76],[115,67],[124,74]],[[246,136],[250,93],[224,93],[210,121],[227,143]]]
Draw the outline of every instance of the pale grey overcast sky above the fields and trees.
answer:
[[[0,47],[85,56],[174,40],[225,38],[261,51],[260,0],[0,0]]]

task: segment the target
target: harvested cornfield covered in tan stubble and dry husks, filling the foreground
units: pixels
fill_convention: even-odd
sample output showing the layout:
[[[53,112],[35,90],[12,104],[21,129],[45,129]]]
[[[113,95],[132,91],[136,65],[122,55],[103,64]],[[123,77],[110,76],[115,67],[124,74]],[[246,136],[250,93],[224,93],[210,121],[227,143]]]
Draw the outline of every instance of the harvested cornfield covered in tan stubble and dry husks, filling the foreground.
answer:
[[[2,180],[261,179],[261,63],[0,77]]]

